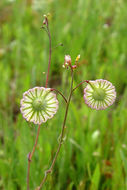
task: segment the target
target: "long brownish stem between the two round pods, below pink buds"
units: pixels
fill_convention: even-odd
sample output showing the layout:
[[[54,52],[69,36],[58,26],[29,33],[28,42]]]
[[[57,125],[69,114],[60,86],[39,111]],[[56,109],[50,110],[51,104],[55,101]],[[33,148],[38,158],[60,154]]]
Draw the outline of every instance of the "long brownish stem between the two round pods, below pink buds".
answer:
[[[50,168],[45,171],[45,176],[44,176],[44,178],[43,178],[43,180],[42,180],[40,186],[37,188],[38,190],[40,190],[40,189],[43,187],[43,185],[44,185],[44,183],[45,183],[45,181],[46,181],[46,179],[47,179],[47,177],[48,177],[48,174],[52,172],[53,167],[54,167],[55,162],[56,162],[56,159],[57,159],[58,154],[59,154],[59,152],[60,152],[61,146],[62,146],[62,144],[63,144],[63,137],[64,137],[64,131],[65,131],[65,128],[66,128],[66,127],[65,127],[65,124],[66,124],[66,120],[67,120],[68,108],[69,108],[69,104],[70,104],[70,100],[71,100],[71,96],[72,96],[72,92],[73,92],[73,69],[71,69],[71,77],[72,77],[72,80],[71,80],[70,94],[69,94],[69,98],[68,98],[68,101],[67,101],[67,104],[66,104],[66,111],[65,111],[65,116],[64,116],[62,131],[61,131],[61,134],[60,134],[59,145],[58,145],[56,154],[55,154],[55,156],[54,156],[54,159],[53,159],[53,161],[52,161],[52,164],[51,164]]]

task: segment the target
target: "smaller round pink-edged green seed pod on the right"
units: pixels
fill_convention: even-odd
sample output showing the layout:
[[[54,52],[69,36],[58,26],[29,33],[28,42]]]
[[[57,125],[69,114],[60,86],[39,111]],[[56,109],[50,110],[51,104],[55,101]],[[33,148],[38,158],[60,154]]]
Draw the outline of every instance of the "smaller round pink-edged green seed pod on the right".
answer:
[[[115,99],[115,87],[107,80],[88,81],[84,89],[85,103],[92,109],[104,110],[111,106]]]

